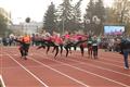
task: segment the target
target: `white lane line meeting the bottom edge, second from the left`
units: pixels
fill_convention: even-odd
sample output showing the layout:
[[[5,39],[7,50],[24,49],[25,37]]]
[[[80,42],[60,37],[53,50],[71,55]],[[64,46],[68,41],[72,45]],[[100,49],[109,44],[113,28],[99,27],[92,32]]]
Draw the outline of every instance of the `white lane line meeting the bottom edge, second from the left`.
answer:
[[[27,70],[24,65],[18,63],[13,57],[8,54],[14,62],[16,62],[20,66],[22,66],[27,73],[29,73],[32,77],[35,77],[39,83],[41,83],[43,86],[49,87],[47,84],[44,84],[40,78],[38,78],[35,74],[32,74],[29,70]]]

